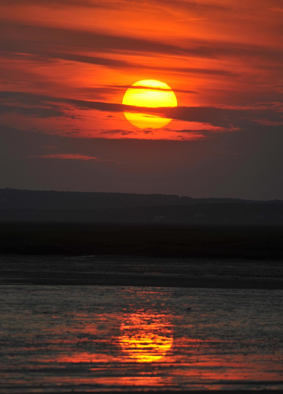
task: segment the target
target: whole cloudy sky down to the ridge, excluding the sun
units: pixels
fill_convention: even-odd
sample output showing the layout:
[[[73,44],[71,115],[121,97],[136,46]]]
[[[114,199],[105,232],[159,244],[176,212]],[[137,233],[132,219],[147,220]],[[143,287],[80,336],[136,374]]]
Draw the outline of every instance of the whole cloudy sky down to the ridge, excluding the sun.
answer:
[[[2,0],[0,188],[283,199],[282,35],[282,0]]]

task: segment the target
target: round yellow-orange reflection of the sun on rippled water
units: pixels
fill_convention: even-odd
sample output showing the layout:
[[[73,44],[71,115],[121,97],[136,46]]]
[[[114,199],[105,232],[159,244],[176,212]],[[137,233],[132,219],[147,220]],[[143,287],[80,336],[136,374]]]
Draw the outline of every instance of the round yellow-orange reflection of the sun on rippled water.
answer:
[[[118,337],[122,350],[137,362],[154,362],[173,344],[172,325],[164,314],[139,310],[127,314]]]

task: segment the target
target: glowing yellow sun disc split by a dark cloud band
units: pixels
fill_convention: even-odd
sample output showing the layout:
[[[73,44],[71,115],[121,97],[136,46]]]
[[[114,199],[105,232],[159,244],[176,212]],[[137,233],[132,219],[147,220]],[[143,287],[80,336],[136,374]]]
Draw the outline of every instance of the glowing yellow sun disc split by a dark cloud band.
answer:
[[[122,103],[147,108],[176,107],[177,99],[171,87],[165,82],[144,79],[135,82],[127,89]],[[141,112],[124,111],[124,115],[132,125],[142,129],[161,128],[172,121],[172,119]]]

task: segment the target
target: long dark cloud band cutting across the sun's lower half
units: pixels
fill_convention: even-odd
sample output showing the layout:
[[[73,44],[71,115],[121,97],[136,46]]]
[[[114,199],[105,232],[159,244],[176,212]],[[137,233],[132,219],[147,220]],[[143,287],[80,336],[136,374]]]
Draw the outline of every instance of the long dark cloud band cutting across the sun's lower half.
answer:
[[[37,105],[43,106],[46,104],[47,106],[51,103],[57,103],[60,109],[60,105],[69,104],[70,108],[80,109],[80,110],[96,110],[101,112],[141,112],[148,113],[154,115],[160,115],[162,117],[175,119],[179,121],[186,122],[201,122],[207,123],[211,126],[218,127],[242,127],[248,126],[251,123],[257,121],[257,119],[265,119],[266,121],[272,122],[281,122],[283,119],[282,108],[283,105],[281,103],[265,103],[265,105],[260,106],[252,106],[246,108],[220,108],[220,107],[212,107],[212,106],[203,106],[203,107],[186,107],[186,106],[178,106],[174,108],[147,108],[147,107],[136,107],[136,106],[128,106],[123,104],[116,103],[107,103],[100,101],[89,101],[89,100],[75,100],[75,99],[67,99],[61,97],[49,97],[43,95],[32,95],[30,93],[21,93],[21,92],[0,92],[0,99],[4,100],[18,100],[22,102],[30,102]],[[40,104],[41,103],[41,104]],[[11,108],[11,105],[10,107]],[[18,111],[18,106],[15,107],[15,113]],[[30,113],[30,109],[27,108],[27,113]],[[25,108],[22,107],[22,112],[24,113]],[[39,108],[41,111],[41,108]],[[66,111],[66,108],[65,108]],[[66,113],[66,112],[65,112]],[[50,114],[52,115],[52,112]],[[61,113],[62,116],[62,113]],[[66,113],[67,116],[67,113]],[[70,115],[75,116],[75,115]]]

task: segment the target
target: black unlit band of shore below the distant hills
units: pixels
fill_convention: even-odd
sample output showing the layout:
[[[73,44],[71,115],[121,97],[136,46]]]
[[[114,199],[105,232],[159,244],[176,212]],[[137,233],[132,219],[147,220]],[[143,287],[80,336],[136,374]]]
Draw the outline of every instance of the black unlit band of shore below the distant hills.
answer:
[[[0,255],[283,259],[283,226],[0,223]]]

